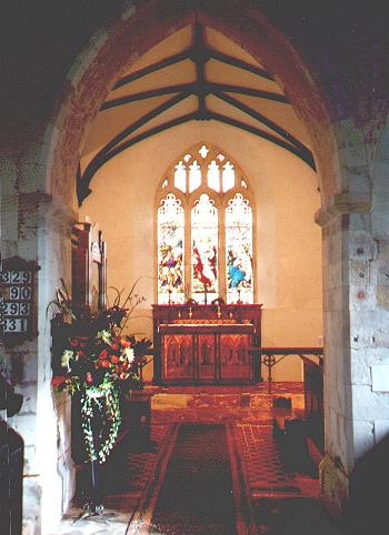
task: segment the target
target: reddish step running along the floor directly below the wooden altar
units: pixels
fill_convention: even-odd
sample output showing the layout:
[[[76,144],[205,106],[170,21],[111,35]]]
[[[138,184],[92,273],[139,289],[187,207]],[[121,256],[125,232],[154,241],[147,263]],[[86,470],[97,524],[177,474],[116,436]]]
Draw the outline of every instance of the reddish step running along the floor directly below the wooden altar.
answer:
[[[151,410],[201,410],[240,408],[272,415],[277,405],[289,405],[292,410],[303,411],[302,383],[273,383],[268,393],[267,383],[258,385],[216,385],[216,386],[147,386],[152,394]]]

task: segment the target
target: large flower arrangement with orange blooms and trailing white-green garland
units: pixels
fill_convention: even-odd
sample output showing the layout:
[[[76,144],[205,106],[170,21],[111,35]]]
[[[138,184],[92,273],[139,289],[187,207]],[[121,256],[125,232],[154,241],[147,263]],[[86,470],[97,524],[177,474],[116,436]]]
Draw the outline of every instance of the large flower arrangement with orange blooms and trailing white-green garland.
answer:
[[[121,394],[142,387],[141,369],[148,362],[146,353],[151,341],[123,334],[130,313],[143,301],[132,295],[133,287],[123,306],[118,293],[111,307],[96,314],[89,307],[74,305],[63,282],[62,289],[57,289],[57,300],[50,303],[59,311],[57,322],[64,333],[60,344],[63,376],[57,381],[57,388],[80,394],[89,461],[107,460],[121,424]]]

